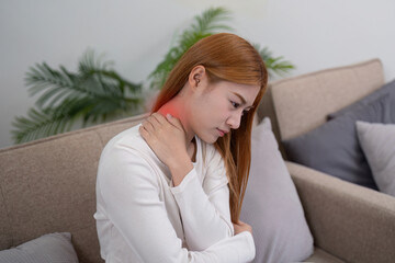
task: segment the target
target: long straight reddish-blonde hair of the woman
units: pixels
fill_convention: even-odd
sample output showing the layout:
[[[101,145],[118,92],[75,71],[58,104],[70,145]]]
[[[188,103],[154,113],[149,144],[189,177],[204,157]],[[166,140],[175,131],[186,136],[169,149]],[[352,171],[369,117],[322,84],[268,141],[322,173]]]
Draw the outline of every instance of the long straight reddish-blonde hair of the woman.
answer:
[[[253,108],[242,116],[240,127],[215,142],[215,148],[224,158],[229,181],[232,221],[237,222],[250,169],[252,121],[266,91],[268,72],[259,53],[246,39],[229,33],[207,36],[189,48],[177,62],[151,112],[157,112],[177,95],[198,65],[205,67],[210,81],[226,80],[260,87]]]

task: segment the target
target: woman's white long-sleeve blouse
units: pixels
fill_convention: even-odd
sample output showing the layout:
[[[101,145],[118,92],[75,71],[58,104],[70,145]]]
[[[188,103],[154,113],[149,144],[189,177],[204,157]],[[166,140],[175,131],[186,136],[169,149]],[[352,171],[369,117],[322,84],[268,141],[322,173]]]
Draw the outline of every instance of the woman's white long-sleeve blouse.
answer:
[[[196,139],[196,162],[173,186],[138,126],[104,147],[97,178],[97,230],[106,263],[246,263],[250,232],[234,236],[224,161]]]

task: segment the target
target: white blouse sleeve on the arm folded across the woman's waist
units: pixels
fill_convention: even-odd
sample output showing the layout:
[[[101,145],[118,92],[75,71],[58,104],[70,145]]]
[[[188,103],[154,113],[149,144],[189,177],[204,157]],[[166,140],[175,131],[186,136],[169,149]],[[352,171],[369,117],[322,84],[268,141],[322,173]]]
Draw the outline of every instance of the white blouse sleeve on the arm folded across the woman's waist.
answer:
[[[247,231],[204,251],[182,248],[159,198],[156,173],[139,152],[117,147],[101,161],[99,176],[108,216],[140,262],[244,263],[255,258],[253,239]]]

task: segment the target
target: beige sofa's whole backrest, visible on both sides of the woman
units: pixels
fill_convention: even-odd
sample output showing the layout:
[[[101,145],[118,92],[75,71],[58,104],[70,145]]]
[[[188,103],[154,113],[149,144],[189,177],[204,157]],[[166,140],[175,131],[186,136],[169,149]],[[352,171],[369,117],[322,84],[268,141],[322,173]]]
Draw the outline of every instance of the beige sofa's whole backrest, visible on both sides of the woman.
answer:
[[[379,59],[289,78],[269,85],[258,116],[269,116],[276,138],[286,139],[383,82]],[[81,263],[102,262],[93,218],[99,158],[110,138],[146,116],[0,149],[0,250],[66,231]]]

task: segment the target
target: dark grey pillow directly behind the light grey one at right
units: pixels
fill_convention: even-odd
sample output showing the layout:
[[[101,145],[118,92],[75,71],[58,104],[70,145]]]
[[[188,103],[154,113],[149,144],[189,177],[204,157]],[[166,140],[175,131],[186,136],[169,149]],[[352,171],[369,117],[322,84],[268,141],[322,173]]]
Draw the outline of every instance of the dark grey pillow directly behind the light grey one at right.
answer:
[[[390,98],[347,112],[300,137],[284,140],[291,161],[377,190],[357,138],[356,122],[391,123]]]

